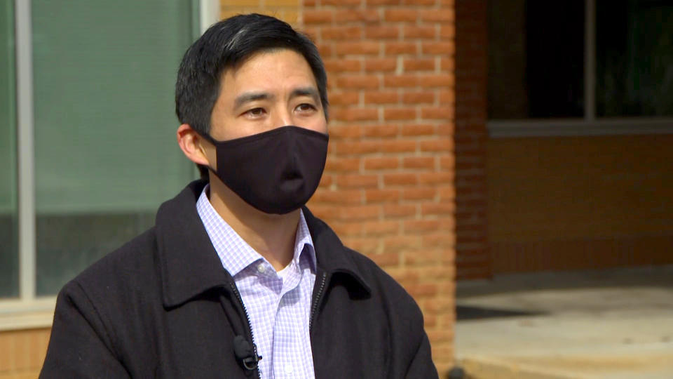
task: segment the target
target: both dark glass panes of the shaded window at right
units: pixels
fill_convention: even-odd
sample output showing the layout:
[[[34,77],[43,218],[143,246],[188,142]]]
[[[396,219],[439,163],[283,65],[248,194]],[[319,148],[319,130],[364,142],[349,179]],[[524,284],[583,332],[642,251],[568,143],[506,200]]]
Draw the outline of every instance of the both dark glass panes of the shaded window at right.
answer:
[[[673,116],[672,0],[491,0],[488,22],[489,119]]]

